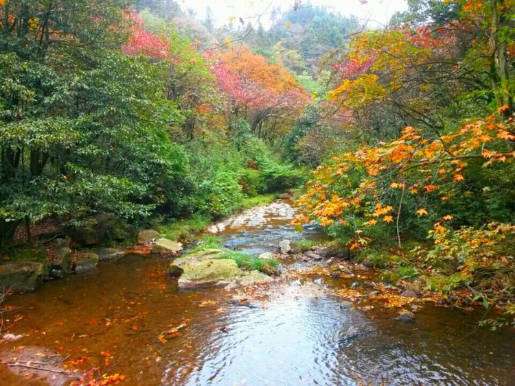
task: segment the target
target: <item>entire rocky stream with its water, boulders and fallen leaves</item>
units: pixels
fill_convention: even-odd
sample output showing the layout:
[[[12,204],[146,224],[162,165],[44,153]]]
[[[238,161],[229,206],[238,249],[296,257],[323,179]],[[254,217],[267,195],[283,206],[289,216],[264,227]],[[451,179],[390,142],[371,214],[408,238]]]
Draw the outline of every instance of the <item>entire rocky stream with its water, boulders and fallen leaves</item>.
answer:
[[[0,384],[514,383],[512,331],[477,329],[484,310],[436,306],[380,280],[317,246],[327,237],[316,226],[297,232],[294,215],[279,201],[208,230],[229,250],[277,258],[270,276],[220,258],[224,250],[185,248],[173,257],[118,254],[12,295]],[[160,239],[141,237],[151,250]],[[314,246],[299,252],[301,240]]]

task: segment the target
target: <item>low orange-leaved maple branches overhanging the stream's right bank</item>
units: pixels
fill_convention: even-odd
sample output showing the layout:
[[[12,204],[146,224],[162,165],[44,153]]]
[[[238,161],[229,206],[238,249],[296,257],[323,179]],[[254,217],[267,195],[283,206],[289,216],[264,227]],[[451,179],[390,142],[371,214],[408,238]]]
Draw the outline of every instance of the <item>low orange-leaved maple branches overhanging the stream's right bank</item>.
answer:
[[[413,217],[427,218],[422,224],[441,234],[464,195],[484,193],[485,186],[474,181],[477,173],[495,167],[513,176],[514,140],[514,120],[503,122],[496,115],[441,136],[407,127],[395,141],[333,156],[321,165],[298,202],[303,216],[295,224],[316,219],[323,226],[346,227],[354,233],[351,250],[369,243],[371,228],[388,224],[396,227],[400,245],[402,221],[411,224]]]

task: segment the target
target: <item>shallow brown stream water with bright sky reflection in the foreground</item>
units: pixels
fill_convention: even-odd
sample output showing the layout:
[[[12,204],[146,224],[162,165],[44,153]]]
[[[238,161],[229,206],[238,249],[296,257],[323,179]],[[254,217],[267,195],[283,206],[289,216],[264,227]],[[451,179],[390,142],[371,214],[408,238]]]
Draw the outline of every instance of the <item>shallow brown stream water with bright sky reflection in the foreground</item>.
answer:
[[[288,232],[275,226],[284,227],[281,237]],[[275,243],[262,229],[245,230],[247,242],[238,232],[224,237],[242,250],[257,248],[263,234]],[[283,283],[262,302],[241,306],[223,289],[177,291],[168,263],[127,256],[13,296],[9,303],[22,308],[10,317],[22,319],[10,332],[25,337],[0,350],[55,348],[69,356],[66,363],[87,356],[82,368],[120,372],[127,385],[515,385],[514,333],[479,329],[461,339],[481,310],[426,305],[407,324],[380,306],[342,307],[324,289],[350,281],[318,276]],[[182,323],[178,337],[159,340]],[[111,355],[109,363],[101,352]],[[14,384],[28,383],[0,367],[0,385]]]

